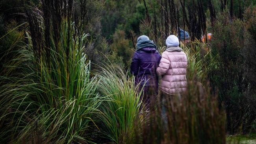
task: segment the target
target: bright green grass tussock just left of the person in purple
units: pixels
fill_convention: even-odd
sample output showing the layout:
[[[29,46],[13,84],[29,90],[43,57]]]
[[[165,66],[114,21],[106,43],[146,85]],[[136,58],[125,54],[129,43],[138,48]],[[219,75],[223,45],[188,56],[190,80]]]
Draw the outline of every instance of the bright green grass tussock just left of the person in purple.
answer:
[[[136,142],[135,123],[143,121],[139,85],[135,85],[134,78],[126,77],[120,68],[103,68],[98,74],[99,92],[106,98],[100,108],[102,132],[117,144]]]

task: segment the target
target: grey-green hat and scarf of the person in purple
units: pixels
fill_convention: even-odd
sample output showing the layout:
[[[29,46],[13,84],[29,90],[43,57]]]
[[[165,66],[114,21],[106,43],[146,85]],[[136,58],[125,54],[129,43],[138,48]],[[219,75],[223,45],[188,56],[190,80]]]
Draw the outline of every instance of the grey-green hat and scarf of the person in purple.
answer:
[[[146,35],[142,35],[138,37],[137,44],[136,44],[136,51],[141,50],[142,48],[155,48],[156,44],[154,44],[153,41],[150,41],[150,39]]]

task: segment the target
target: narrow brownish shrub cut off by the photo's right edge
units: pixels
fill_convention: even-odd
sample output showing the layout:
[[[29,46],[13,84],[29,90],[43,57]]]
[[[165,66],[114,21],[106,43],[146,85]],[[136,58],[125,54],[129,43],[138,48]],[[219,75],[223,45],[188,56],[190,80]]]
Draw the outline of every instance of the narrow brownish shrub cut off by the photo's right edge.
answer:
[[[248,32],[245,33],[245,50],[241,53],[245,59],[243,68],[245,70],[244,77],[248,83],[248,89],[245,92],[245,95],[247,96],[249,113],[246,114],[247,118],[245,119],[246,123],[244,123],[243,132],[248,133],[253,127],[253,123],[255,124],[256,119],[256,62],[254,60],[256,57],[256,8],[247,8],[245,10],[244,18],[246,30]]]

